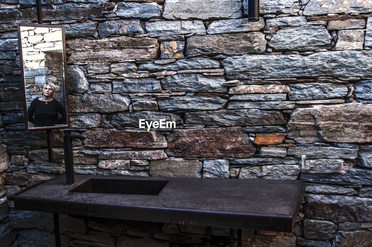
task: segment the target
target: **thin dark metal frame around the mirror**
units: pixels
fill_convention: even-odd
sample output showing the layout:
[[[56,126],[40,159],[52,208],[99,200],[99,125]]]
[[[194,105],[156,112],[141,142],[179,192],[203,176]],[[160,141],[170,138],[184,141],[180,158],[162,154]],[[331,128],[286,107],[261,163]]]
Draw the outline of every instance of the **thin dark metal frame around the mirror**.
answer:
[[[23,64],[23,52],[22,52],[22,38],[20,27],[21,26],[31,26],[31,27],[39,27],[39,28],[61,28],[62,30],[62,55],[63,55],[63,67],[64,67],[64,80],[62,80],[61,84],[61,94],[62,98],[65,101],[66,106],[66,125],[60,126],[47,126],[47,127],[35,127],[29,128],[28,126],[28,115],[27,115],[27,103],[26,103],[26,81],[25,81],[25,73],[24,73],[24,64]],[[68,78],[67,78],[67,58],[66,58],[66,45],[65,45],[65,29],[62,25],[44,25],[44,24],[33,24],[33,23],[17,23],[17,30],[18,30],[18,45],[19,45],[19,60],[20,60],[20,68],[21,68],[21,77],[23,83],[23,109],[24,109],[24,121],[25,121],[25,128],[26,131],[45,131],[50,129],[65,129],[70,128],[70,110],[69,110],[69,102],[68,102]]]

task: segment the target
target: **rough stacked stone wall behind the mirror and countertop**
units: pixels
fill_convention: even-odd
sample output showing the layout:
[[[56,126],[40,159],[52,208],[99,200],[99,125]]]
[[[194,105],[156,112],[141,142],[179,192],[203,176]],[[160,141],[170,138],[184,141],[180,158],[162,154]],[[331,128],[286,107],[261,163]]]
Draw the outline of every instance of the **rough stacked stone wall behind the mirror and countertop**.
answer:
[[[0,8],[2,246],[53,246],[51,215],[5,196],[64,172],[61,132],[49,163],[45,134],[24,131],[16,21],[35,22],[34,4]],[[45,23],[65,25],[71,127],[87,136],[76,173],[302,179],[294,232],[243,231],[244,246],[372,246],[371,1],[261,0],[256,23],[246,0],[43,4]],[[206,231],[61,219],[74,247],[202,246]]]

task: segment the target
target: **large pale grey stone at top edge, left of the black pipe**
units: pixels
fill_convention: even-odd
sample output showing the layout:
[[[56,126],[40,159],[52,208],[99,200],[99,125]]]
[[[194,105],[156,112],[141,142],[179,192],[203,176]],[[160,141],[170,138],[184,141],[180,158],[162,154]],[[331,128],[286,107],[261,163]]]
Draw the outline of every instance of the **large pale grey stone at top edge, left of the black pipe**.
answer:
[[[240,0],[167,0],[163,18],[169,20],[237,19],[242,16]]]

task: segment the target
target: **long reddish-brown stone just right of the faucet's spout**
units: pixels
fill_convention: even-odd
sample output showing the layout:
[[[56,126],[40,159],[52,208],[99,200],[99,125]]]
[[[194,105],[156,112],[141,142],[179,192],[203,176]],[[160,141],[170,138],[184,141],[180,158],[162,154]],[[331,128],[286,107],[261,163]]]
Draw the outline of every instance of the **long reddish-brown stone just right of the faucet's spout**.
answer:
[[[164,148],[167,147],[167,140],[159,132],[91,129],[84,145],[90,148]]]

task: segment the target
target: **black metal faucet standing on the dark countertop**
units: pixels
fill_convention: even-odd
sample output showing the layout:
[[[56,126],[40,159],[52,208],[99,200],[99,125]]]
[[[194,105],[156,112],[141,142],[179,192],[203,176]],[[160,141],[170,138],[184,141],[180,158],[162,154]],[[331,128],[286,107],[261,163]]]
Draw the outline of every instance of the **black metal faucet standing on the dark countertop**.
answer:
[[[66,186],[75,185],[72,139],[84,140],[86,138],[82,135],[71,134],[71,131],[81,131],[81,129],[64,129],[63,130],[63,146],[65,150]]]

